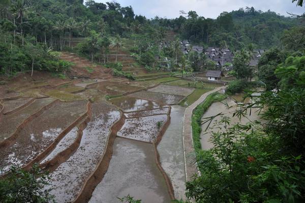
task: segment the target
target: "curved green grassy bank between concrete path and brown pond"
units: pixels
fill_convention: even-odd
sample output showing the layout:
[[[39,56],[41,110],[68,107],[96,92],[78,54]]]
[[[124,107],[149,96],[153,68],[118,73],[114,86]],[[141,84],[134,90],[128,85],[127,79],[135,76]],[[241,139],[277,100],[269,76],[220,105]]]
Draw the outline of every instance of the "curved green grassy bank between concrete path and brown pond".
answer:
[[[208,107],[217,101],[222,101],[227,97],[227,95],[220,93],[212,93],[206,97],[206,99],[199,104],[192,113],[192,135],[193,135],[193,143],[196,153],[196,159],[199,161],[200,154],[202,154],[201,142],[200,142],[200,133],[201,133],[201,118],[204,112],[208,109]],[[198,165],[199,166],[199,165]],[[200,166],[199,166],[200,168]]]

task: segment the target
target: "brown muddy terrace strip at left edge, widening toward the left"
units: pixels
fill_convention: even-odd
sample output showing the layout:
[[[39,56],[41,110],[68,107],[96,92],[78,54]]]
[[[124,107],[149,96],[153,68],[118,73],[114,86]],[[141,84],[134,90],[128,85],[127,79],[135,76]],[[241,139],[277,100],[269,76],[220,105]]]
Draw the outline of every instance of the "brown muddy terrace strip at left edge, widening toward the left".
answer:
[[[17,127],[21,125],[32,114],[39,111],[44,106],[47,106],[54,102],[53,98],[37,99],[27,107],[9,115],[3,115],[0,122],[0,142],[12,136]]]

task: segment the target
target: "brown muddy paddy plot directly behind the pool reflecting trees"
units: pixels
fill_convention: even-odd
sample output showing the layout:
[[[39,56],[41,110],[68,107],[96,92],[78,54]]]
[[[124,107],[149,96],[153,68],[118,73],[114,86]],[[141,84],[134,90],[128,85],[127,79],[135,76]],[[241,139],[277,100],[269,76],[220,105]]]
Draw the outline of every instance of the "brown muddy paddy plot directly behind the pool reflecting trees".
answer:
[[[178,104],[182,99],[185,98],[184,96],[180,96],[180,95],[164,94],[164,93],[149,92],[149,91],[140,91],[129,94],[128,96],[156,101],[161,104]]]

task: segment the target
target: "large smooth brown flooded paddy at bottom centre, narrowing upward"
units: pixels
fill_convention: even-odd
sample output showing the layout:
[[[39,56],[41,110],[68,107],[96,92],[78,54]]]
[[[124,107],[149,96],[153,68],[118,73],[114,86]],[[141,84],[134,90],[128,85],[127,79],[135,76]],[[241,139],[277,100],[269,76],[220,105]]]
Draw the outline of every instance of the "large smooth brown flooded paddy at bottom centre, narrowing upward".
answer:
[[[116,197],[128,194],[145,203],[171,200],[152,144],[117,137],[108,171],[89,202],[120,202]]]

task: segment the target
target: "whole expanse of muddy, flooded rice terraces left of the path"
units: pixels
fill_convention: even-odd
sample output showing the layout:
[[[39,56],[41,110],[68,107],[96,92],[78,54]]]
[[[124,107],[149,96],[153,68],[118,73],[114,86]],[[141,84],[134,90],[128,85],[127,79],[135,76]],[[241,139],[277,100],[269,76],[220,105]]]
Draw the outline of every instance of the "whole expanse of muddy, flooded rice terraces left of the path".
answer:
[[[66,79],[34,72],[0,86],[0,174],[38,163],[50,172],[45,189],[56,202],[184,198],[184,108],[173,108],[173,123],[171,114],[194,88],[129,81],[75,54],[62,58],[73,62]],[[131,70],[134,61],[121,53],[124,59]]]

